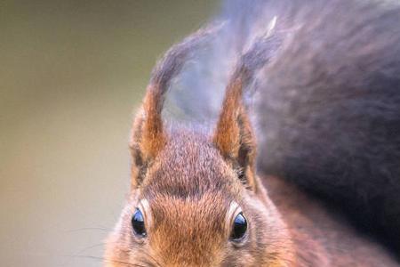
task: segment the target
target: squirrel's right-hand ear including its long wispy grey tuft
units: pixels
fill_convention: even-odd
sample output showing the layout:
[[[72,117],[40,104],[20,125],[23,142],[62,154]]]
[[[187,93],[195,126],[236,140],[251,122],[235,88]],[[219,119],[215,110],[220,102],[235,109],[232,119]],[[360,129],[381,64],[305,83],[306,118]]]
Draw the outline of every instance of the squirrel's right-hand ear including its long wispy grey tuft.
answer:
[[[257,190],[254,177],[256,142],[244,105],[243,90],[250,84],[256,71],[268,63],[280,44],[279,36],[261,36],[241,57],[228,82],[212,139],[221,155],[238,169],[239,179],[251,190]]]

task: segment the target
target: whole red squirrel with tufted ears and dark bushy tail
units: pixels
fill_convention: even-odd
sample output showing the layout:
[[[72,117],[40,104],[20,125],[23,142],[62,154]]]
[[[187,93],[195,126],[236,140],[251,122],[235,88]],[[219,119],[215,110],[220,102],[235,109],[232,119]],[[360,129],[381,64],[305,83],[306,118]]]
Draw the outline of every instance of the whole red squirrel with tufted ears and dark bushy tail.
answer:
[[[399,4],[231,0],[222,19],[153,70],[105,265],[399,266]],[[169,125],[204,52],[228,66],[215,125]]]

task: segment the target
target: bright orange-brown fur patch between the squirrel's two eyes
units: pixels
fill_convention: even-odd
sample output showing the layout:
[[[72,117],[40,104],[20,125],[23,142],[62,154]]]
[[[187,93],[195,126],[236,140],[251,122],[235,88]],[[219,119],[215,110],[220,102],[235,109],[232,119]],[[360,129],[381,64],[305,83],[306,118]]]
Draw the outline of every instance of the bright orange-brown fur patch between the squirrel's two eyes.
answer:
[[[152,199],[150,246],[169,262],[178,259],[181,263],[195,262],[196,266],[212,265],[204,261],[214,258],[213,254],[228,239],[226,201],[223,196],[211,193],[200,199],[167,196]]]

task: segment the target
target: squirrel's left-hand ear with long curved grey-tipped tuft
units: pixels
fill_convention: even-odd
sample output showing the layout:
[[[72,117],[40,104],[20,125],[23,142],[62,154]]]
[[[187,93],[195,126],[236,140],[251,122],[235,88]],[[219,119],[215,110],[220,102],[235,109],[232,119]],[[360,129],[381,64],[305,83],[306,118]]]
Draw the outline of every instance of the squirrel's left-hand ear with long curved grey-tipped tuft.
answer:
[[[188,36],[182,43],[172,46],[153,70],[147,93],[140,113],[132,127],[132,188],[143,181],[148,166],[163,150],[168,140],[164,132],[162,111],[165,93],[173,77],[179,74],[183,65],[196,49],[215,32],[218,27],[202,28]]]

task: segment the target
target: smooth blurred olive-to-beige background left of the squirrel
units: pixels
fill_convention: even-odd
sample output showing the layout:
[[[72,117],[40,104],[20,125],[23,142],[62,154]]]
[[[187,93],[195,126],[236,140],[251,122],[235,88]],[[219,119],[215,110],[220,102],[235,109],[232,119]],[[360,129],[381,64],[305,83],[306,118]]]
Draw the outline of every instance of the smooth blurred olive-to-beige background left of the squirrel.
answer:
[[[212,0],[0,2],[2,266],[100,266],[156,59]]]

